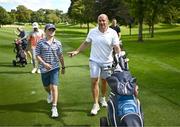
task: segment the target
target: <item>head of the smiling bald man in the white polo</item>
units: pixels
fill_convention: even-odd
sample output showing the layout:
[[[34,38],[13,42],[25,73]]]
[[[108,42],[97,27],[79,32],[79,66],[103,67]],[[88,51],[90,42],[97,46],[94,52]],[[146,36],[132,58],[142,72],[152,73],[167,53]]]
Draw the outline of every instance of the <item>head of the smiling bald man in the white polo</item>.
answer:
[[[108,27],[108,18],[105,15],[101,15],[98,17],[98,25],[100,29],[107,29]]]

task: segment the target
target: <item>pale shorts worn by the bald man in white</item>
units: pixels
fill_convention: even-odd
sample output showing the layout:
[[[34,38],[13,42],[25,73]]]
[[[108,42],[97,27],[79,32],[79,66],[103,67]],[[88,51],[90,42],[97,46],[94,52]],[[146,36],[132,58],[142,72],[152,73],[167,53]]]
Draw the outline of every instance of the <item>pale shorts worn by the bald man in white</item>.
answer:
[[[107,70],[107,68],[112,67],[112,63],[96,63],[90,60],[89,67],[91,78],[101,77],[102,79],[106,79],[111,76],[111,70]]]

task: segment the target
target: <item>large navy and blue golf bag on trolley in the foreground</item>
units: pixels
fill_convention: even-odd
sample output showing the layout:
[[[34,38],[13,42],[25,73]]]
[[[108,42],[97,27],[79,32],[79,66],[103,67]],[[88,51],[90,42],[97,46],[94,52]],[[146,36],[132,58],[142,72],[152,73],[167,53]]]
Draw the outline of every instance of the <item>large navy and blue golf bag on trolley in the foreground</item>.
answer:
[[[111,89],[107,102],[107,116],[100,118],[100,127],[143,127],[143,113],[137,98],[136,78],[128,69],[125,52],[120,57],[114,58],[113,66],[109,68],[112,74],[107,78]]]

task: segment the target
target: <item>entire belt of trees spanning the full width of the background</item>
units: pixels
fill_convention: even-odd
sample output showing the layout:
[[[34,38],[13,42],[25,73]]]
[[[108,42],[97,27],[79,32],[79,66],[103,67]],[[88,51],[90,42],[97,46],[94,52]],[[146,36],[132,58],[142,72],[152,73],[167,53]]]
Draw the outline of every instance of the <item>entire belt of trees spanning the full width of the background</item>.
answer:
[[[179,0],[71,0],[68,13],[61,10],[39,9],[32,11],[23,5],[7,12],[0,6],[0,25],[18,23],[80,23],[89,24],[97,21],[100,13],[116,18],[121,25],[138,25],[138,41],[143,41],[143,24],[149,26],[151,37],[154,36],[156,23],[180,23]]]

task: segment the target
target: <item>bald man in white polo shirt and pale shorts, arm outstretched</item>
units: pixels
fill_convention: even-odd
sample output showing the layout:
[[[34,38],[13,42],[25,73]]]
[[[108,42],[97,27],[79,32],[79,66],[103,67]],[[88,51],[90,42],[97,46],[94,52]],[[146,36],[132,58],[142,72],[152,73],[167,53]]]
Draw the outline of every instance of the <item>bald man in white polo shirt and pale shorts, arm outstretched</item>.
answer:
[[[86,47],[91,45],[91,53],[89,58],[90,76],[92,85],[92,95],[94,105],[91,110],[92,115],[96,115],[100,110],[98,101],[102,107],[107,106],[106,102],[106,91],[107,82],[106,78],[109,76],[109,72],[105,71],[104,68],[112,66],[113,48],[115,52],[120,54],[119,38],[115,30],[108,26],[108,16],[106,14],[100,14],[98,16],[98,27],[90,30],[86,40],[80,45],[78,49],[72,52],[68,52],[69,56],[75,56]],[[99,80],[102,80],[102,97],[99,100]]]

